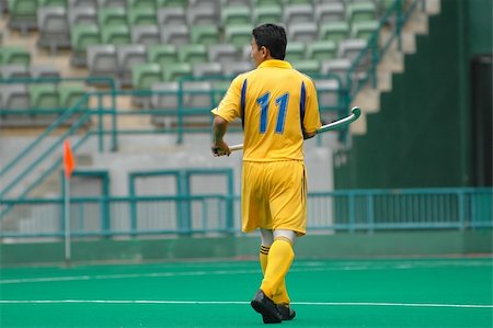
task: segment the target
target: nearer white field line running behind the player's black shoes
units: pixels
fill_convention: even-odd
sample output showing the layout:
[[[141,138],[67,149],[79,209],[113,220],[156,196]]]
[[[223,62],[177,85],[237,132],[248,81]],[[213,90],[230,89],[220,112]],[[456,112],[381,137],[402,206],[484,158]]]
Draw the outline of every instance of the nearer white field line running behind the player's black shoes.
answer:
[[[154,301],[154,299],[0,299],[0,304],[169,304],[169,305],[248,305],[244,301]],[[294,302],[297,306],[393,306],[493,308],[485,304],[380,303],[380,302]]]

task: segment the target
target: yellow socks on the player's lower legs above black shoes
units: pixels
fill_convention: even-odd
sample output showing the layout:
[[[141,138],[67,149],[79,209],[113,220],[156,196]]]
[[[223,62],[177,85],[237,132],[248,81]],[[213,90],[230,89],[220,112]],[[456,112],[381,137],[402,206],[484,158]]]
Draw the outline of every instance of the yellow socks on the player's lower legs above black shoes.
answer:
[[[289,303],[285,278],[294,258],[291,244],[283,238],[274,240],[268,256],[261,252],[261,265],[264,272],[261,290],[275,303]]]

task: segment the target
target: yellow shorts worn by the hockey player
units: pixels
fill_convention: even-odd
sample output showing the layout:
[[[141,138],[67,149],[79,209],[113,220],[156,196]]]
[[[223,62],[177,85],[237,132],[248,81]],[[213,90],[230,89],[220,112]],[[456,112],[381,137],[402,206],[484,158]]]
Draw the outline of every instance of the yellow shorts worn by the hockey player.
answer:
[[[242,230],[307,231],[307,179],[299,160],[243,162]]]

